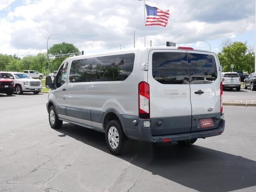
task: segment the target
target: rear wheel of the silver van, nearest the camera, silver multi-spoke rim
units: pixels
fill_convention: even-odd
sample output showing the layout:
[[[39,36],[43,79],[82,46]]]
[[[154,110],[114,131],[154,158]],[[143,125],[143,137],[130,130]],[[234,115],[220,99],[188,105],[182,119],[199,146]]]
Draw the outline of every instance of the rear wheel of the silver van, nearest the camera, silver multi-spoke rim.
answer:
[[[106,144],[110,152],[120,155],[127,152],[128,138],[126,138],[119,120],[111,120],[106,128]]]

